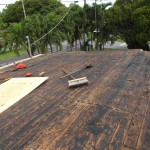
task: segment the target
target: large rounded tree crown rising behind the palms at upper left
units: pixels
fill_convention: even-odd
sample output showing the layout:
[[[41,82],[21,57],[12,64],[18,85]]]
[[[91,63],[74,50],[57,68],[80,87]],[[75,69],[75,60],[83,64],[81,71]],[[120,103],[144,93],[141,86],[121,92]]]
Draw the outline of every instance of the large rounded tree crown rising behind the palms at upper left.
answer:
[[[27,16],[30,16],[33,14],[46,15],[55,11],[59,6],[63,6],[63,4],[57,0],[24,0],[24,6]],[[24,20],[21,0],[16,1],[14,4],[9,4],[2,12],[2,19],[8,26],[11,23]]]

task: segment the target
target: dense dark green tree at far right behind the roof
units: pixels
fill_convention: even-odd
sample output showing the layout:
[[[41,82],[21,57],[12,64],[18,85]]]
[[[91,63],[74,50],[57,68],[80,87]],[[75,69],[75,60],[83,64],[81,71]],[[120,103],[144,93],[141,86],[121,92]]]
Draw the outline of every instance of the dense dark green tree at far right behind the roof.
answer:
[[[110,24],[129,49],[149,50],[150,3],[148,0],[118,0],[111,9]]]

